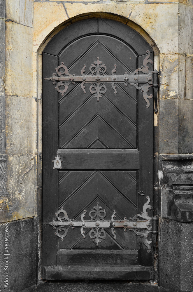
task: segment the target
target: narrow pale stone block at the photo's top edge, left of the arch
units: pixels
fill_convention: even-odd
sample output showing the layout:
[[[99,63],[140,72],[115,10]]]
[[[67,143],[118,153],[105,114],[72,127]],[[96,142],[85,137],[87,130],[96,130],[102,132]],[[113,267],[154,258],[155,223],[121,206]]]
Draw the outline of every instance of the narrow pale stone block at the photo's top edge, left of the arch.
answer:
[[[20,0],[20,23],[33,27],[33,0]]]

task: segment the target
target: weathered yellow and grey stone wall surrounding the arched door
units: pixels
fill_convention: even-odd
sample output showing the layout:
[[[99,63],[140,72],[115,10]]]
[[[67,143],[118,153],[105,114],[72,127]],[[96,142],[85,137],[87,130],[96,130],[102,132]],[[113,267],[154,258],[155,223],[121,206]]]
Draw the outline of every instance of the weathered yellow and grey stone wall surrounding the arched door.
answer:
[[[5,34],[5,79],[2,73],[0,95],[4,96],[5,92],[6,127],[4,130],[2,127],[1,133],[3,131],[6,133],[6,153],[5,147],[2,146],[1,154],[6,154],[8,161],[9,210],[5,207],[1,211],[3,214],[1,222],[12,222],[10,225],[15,226],[17,230],[17,237],[15,237],[17,240],[24,236],[23,228],[16,227],[19,226],[20,220],[31,222],[26,226],[28,232],[34,234],[35,239],[38,234],[36,239],[38,279],[41,279],[41,132],[42,126],[46,126],[48,121],[48,117],[45,117],[42,123],[41,53],[43,48],[60,29],[83,18],[111,18],[136,29],[151,44],[155,52],[155,67],[160,70],[159,114],[155,115],[154,119],[155,156],[157,160],[162,161],[160,154],[190,154],[193,152],[193,3],[191,0],[162,2],[0,0],[0,11],[3,11],[1,8],[4,4],[6,4],[5,15],[1,13],[0,22],[2,40]],[[5,32],[3,25],[6,26]],[[2,58],[4,58],[3,55]],[[3,99],[1,108],[2,105]],[[3,119],[2,117],[4,115],[1,115],[0,111],[0,119]],[[189,165],[189,162],[187,164]],[[180,165],[176,166],[174,163],[173,167],[180,168]],[[179,195],[179,188],[175,193],[172,184],[169,185],[163,181],[167,177],[166,168],[164,163],[160,162],[160,184],[155,175],[155,194],[157,195],[154,207],[157,215],[158,207],[160,207],[161,218],[159,284],[173,289],[172,291],[193,291],[190,277],[187,278],[183,274],[185,263],[188,261],[188,249],[182,248],[183,244],[188,246],[191,240],[189,227],[192,226],[192,219],[189,221],[179,219],[183,216],[180,215],[182,212],[180,213],[179,208],[178,214],[174,210],[169,215],[167,200],[169,196],[173,196],[170,201],[173,200],[172,206],[176,206],[175,196]],[[193,172],[192,169],[190,164],[189,174]],[[181,172],[181,174],[185,173],[185,171]],[[190,201],[192,195],[190,190],[188,197]],[[184,192],[181,197],[187,198],[187,194]],[[38,227],[36,227],[36,222],[38,222]],[[35,233],[33,233],[34,230],[36,230]],[[173,233],[168,235],[167,230],[173,230]],[[184,230],[190,233],[186,243],[183,243]],[[171,243],[173,234],[176,244],[181,240],[181,247],[176,251],[176,246],[171,246],[170,252],[167,253],[166,243]],[[12,247],[15,246],[10,241],[10,248]],[[35,258],[36,250],[36,246],[33,245],[31,252]],[[178,262],[173,263],[173,272],[171,272],[171,258],[174,258],[176,253],[181,255],[180,262],[178,258]],[[13,265],[16,265],[16,261]],[[189,266],[191,267],[190,264]],[[33,267],[36,269],[35,265]],[[171,277],[175,273],[179,275],[178,281],[175,277]],[[25,279],[25,275],[23,277]],[[34,280],[32,282],[23,281],[23,286],[20,284],[18,291],[35,284]],[[11,279],[10,283],[13,291],[17,291],[14,280]]]

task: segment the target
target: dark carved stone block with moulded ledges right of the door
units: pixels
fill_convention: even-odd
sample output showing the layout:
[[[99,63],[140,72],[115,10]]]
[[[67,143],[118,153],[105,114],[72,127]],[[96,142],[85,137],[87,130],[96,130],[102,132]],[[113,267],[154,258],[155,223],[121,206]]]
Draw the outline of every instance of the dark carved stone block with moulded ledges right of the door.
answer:
[[[161,155],[161,217],[193,222],[193,156]]]

